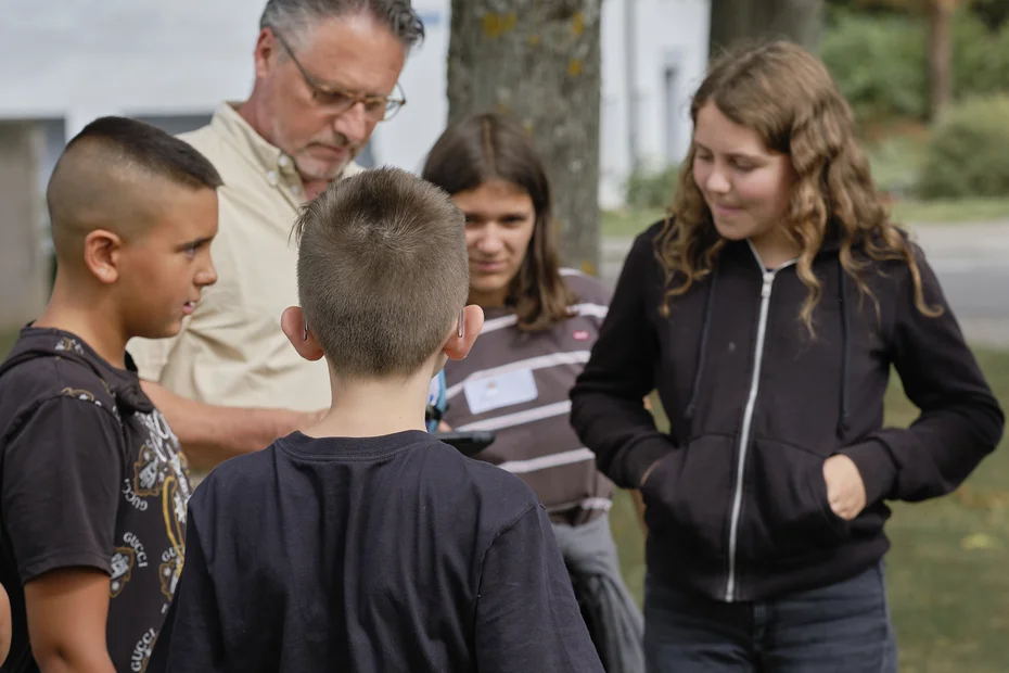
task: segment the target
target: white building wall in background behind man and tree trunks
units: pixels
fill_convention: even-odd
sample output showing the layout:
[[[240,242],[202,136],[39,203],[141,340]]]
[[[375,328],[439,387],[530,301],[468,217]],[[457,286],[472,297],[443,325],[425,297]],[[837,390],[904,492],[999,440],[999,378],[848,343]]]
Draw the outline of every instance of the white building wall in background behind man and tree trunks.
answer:
[[[707,51],[707,0],[604,0],[600,202],[617,205],[630,168],[624,14],[636,3],[639,151],[648,164],[668,158],[689,137],[686,104]],[[199,124],[221,100],[245,98],[263,0],[4,0],[0,22],[0,119],[50,119],[59,147],[104,114],[162,126]],[[416,0],[427,38],[408,61],[401,84],[408,105],[373,139],[378,163],[419,170],[447,112],[449,0]],[[663,71],[681,68],[674,99],[684,107],[669,126]],[[179,119],[173,119],[180,117]],[[55,139],[55,140],[53,140]],[[54,156],[46,157],[44,181]]]

